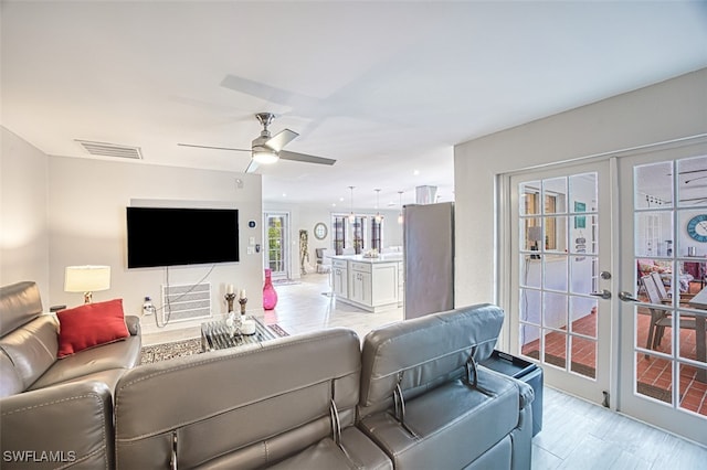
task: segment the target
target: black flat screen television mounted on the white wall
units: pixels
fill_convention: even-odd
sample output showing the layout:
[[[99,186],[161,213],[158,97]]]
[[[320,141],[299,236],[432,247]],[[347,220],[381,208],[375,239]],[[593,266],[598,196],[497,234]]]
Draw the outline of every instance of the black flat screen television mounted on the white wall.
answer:
[[[128,268],[235,263],[236,209],[127,207]]]

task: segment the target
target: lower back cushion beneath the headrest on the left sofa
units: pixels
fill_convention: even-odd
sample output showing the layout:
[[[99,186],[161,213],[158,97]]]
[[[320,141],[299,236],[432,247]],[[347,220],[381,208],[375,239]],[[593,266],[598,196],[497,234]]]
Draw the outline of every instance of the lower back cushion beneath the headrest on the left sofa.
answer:
[[[56,361],[56,319],[40,316],[0,339],[27,389]]]

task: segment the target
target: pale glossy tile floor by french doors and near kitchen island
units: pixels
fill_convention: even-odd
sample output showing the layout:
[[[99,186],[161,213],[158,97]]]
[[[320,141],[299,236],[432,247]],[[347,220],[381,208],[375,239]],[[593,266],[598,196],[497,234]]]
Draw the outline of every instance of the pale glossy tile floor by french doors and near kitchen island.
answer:
[[[402,319],[402,309],[368,313],[337,302],[327,276],[308,274],[299,284],[275,286],[277,308],[266,323],[300,333],[346,327],[360,338],[372,328]],[[150,335],[146,343],[199,335],[198,328]],[[551,387],[544,389],[542,430],[532,440],[534,470],[553,469],[677,469],[705,468],[707,448],[590,404]]]

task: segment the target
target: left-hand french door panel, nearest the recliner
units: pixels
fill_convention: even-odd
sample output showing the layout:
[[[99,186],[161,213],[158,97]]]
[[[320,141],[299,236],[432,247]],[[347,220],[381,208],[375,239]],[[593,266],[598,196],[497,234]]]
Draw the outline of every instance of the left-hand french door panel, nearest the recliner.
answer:
[[[611,372],[609,161],[510,177],[510,351],[549,385],[606,400]]]

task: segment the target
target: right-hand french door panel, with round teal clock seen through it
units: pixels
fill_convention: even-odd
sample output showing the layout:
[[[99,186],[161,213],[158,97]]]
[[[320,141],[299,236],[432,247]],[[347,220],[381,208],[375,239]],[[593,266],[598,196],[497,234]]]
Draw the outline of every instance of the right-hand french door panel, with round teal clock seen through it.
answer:
[[[690,303],[706,287],[707,237],[693,221],[707,220],[707,142],[619,160],[631,292],[620,305],[619,409],[707,446],[707,310]]]

